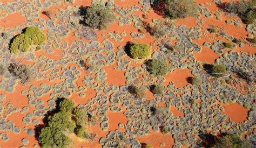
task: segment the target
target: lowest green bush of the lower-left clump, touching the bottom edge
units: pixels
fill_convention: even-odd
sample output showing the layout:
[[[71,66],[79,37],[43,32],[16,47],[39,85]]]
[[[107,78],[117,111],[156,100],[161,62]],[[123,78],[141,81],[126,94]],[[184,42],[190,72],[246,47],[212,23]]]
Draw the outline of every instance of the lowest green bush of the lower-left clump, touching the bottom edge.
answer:
[[[71,140],[63,134],[62,128],[45,127],[41,130],[38,142],[42,147],[66,147]]]

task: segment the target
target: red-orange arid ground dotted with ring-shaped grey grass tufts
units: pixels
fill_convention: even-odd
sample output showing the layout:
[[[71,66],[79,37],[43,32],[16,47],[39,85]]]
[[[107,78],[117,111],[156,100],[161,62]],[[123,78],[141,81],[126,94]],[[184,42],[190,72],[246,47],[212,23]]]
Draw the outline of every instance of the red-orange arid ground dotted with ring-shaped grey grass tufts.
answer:
[[[115,147],[117,143],[193,147],[200,141],[200,132],[238,132],[243,138],[253,138],[254,83],[254,89],[240,78],[238,84],[227,83],[214,79],[202,67],[220,62],[255,74],[256,48],[246,40],[250,34],[255,36],[255,24],[245,25],[238,16],[220,11],[217,1],[197,0],[197,17],[176,19],[165,26],[167,36],[156,38],[143,25],[166,18],[151,8],[150,1],[107,2],[117,19],[105,30],[93,30],[79,24],[79,6],[89,6],[89,0],[0,0],[0,31],[7,34],[0,37],[0,62],[6,66],[29,64],[34,72],[33,80],[24,85],[10,73],[0,76],[0,146],[38,147],[37,126],[43,124],[44,114],[55,108],[58,97],[73,100],[97,118],[96,125],[87,127],[97,139],[69,135],[70,147]],[[50,10],[51,18],[42,14]],[[42,49],[11,53],[10,40],[28,26],[45,33]],[[213,26],[217,33],[207,31]],[[221,42],[234,38],[243,43],[219,48]],[[151,45],[152,58],[168,61],[170,72],[151,76],[144,61],[126,54],[129,41]],[[166,53],[164,44],[184,48]],[[93,63],[93,69],[87,71],[81,60]],[[200,86],[188,81],[195,75],[202,77]],[[164,94],[153,94],[152,84],[163,84]],[[131,85],[146,87],[146,95],[131,95]],[[162,111],[160,115],[150,115],[152,107]],[[163,126],[169,128],[168,133],[160,131]]]

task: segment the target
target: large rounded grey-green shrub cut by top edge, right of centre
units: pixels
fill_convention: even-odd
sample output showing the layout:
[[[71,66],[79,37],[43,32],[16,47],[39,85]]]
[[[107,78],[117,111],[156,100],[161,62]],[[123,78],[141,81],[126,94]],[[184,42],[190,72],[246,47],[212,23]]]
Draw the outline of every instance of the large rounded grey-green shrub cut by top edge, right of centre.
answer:
[[[171,19],[196,16],[199,6],[194,0],[163,0],[165,15]]]

